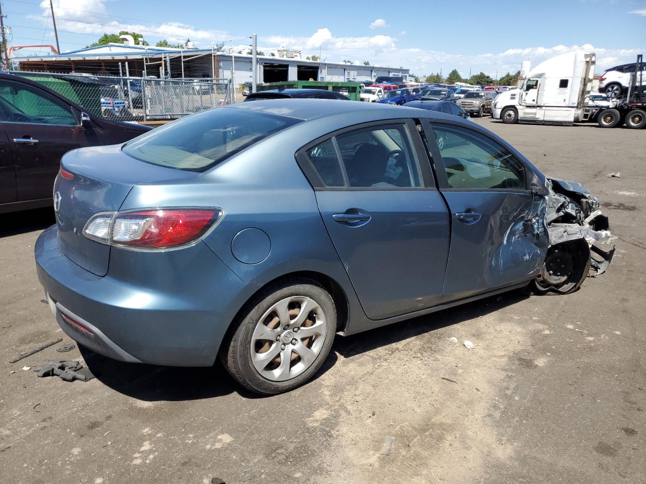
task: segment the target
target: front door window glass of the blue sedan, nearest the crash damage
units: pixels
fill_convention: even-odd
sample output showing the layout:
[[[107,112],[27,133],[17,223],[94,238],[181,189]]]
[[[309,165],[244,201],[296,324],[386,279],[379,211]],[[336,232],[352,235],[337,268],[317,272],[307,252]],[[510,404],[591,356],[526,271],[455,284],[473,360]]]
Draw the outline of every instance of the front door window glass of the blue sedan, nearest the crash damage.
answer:
[[[523,164],[503,146],[466,128],[433,126],[450,188],[525,190]]]

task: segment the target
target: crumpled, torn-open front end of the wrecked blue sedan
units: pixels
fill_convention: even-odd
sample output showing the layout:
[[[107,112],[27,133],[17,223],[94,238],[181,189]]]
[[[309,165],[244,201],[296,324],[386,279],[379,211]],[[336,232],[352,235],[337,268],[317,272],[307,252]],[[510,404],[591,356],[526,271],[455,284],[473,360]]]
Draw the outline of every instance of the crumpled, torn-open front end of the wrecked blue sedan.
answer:
[[[616,239],[608,217],[599,210],[599,199],[572,181],[546,179],[549,194],[545,225],[549,246],[537,290],[568,294],[587,276],[603,274],[612,260],[614,246],[599,247]]]

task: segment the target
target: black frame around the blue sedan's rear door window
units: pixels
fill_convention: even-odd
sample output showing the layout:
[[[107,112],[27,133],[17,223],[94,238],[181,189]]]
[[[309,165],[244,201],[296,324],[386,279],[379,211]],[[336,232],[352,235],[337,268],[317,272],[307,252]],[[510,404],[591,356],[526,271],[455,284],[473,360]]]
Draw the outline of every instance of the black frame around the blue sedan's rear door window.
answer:
[[[314,167],[313,163],[310,161],[309,157],[307,156],[307,152],[311,150],[311,148],[314,148],[315,146],[320,145],[320,143],[324,143],[325,141],[328,141],[329,139],[331,139],[333,142],[333,145],[335,146],[335,150],[337,152],[337,162],[339,163],[340,170],[342,173],[345,173],[346,167],[343,163],[343,159],[339,151],[339,146],[337,145],[336,137],[341,136],[343,134],[351,133],[353,131],[359,131],[366,128],[377,128],[379,126],[387,126],[387,125],[404,125],[408,129],[408,133],[412,141],[411,148],[413,153],[415,154],[415,157],[417,157],[417,166],[419,168],[419,174],[421,177],[421,187],[326,187],[322,178],[319,176],[317,169]],[[415,121],[412,118],[382,119],[380,121],[370,121],[368,123],[359,123],[357,125],[346,126],[339,130],[325,134],[324,136],[320,136],[317,139],[314,139],[313,141],[310,141],[309,143],[307,143],[307,145],[302,146],[297,150],[295,154],[295,158],[298,163],[298,166],[300,166],[300,169],[302,170],[303,174],[307,178],[307,181],[309,181],[309,184],[312,186],[312,188],[314,188],[315,191],[362,192],[366,190],[408,191],[408,190],[437,190],[438,189],[437,185],[435,184],[435,177],[433,177],[433,172],[431,170],[431,161],[428,157],[428,153],[426,152],[426,148],[424,148],[424,142],[422,141],[422,137],[420,136],[419,131],[417,130],[417,125],[415,124]]]

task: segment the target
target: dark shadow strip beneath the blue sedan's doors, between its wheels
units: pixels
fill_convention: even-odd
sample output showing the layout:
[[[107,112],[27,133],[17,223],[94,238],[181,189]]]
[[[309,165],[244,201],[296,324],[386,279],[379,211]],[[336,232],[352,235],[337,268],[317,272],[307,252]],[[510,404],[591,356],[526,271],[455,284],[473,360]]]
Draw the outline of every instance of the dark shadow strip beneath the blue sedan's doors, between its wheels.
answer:
[[[501,308],[514,305],[529,296],[520,290],[505,292],[497,296],[485,297],[471,303],[444,309],[437,312],[408,319],[392,325],[375,328],[360,334],[353,334],[345,338],[337,338],[333,351],[344,358],[352,358],[359,354],[374,350],[392,343],[399,343],[404,339],[414,338],[420,334],[432,332],[439,328],[452,326],[469,319],[485,316]]]

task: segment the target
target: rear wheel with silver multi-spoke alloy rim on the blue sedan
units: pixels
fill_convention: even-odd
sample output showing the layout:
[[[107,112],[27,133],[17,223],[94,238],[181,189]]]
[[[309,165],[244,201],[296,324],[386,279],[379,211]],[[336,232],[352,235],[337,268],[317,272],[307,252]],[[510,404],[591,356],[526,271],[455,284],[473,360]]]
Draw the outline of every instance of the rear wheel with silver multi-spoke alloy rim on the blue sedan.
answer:
[[[293,390],[328,357],[337,311],[317,281],[287,279],[271,285],[241,313],[222,342],[220,358],[231,376],[252,392]]]

